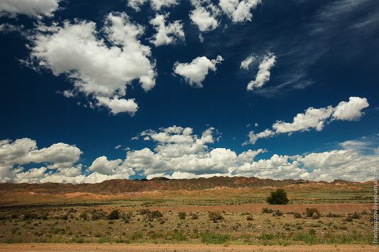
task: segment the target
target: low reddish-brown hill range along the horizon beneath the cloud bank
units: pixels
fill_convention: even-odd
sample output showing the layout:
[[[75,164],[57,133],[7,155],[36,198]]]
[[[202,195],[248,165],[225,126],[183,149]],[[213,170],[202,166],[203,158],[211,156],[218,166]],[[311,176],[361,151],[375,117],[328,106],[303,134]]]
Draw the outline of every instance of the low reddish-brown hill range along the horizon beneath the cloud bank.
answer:
[[[96,184],[61,184],[61,183],[43,183],[43,184],[0,184],[2,193],[29,192],[29,193],[95,193],[100,195],[112,195],[118,193],[134,193],[148,191],[177,191],[177,190],[205,190],[216,187],[227,187],[231,189],[253,188],[253,187],[286,187],[289,185],[312,184],[357,184],[344,180],[334,182],[313,182],[308,180],[272,180],[260,178],[245,177],[212,177],[212,178],[193,178],[170,180],[168,178],[153,178],[152,180],[106,180]]]

